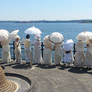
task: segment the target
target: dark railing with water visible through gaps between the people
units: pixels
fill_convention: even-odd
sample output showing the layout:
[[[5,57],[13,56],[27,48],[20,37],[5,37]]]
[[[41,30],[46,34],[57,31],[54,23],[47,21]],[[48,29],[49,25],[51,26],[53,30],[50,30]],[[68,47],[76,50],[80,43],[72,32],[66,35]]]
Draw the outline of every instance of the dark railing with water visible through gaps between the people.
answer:
[[[11,52],[11,58],[13,60],[15,60],[15,53],[14,53],[14,50],[15,50],[15,46],[14,46],[14,42],[13,43],[10,43],[10,52]],[[42,57],[43,57],[43,50],[44,50],[44,44],[43,42],[41,42],[41,53],[42,53]],[[32,45],[32,51],[33,51],[33,45]],[[22,59],[25,60],[25,55],[24,55],[24,44],[21,44],[21,52],[22,52]],[[75,44],[74,44],[74,48],[73,48],[73,53],[75,54]],[[2,47],[0,46],[0,58],[2,57]]]

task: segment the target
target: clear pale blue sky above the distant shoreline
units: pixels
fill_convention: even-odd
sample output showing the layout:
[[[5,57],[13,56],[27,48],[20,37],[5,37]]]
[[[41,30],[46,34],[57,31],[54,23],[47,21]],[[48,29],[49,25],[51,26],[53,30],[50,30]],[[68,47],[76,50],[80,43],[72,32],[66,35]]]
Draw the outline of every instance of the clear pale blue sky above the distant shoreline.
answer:
[[[92,19],[92,0],[0,0],[0,20]]]

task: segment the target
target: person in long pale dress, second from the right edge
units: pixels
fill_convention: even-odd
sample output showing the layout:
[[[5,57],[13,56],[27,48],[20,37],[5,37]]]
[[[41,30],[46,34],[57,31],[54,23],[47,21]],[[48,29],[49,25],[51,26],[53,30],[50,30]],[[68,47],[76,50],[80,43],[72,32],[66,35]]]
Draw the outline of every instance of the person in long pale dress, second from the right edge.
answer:
[[[78,40],[75,44],[75,61],[74,65],[76,67],[83,67],[85,65],[85,56],[84,56],[84,44],[82,40]]]

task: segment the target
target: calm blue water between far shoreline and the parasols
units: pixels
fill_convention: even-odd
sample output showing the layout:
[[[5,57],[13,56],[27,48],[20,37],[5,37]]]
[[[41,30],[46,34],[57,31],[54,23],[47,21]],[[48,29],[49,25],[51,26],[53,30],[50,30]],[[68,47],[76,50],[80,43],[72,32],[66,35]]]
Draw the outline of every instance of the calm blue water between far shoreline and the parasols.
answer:
[[[86,23],[0,23],[0,29],[7,29],[9,32],[19,29],[21,38],[25,38],[24,31],[31,26],[38,27],[42,31],[42,39],[52,32],[60,32],[65,40],[73,39],[82,31],[92,31],[92,24]]]

